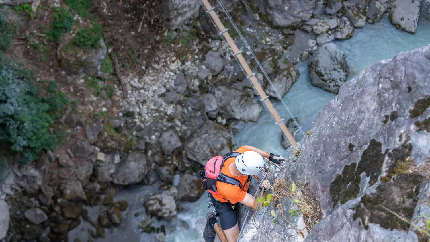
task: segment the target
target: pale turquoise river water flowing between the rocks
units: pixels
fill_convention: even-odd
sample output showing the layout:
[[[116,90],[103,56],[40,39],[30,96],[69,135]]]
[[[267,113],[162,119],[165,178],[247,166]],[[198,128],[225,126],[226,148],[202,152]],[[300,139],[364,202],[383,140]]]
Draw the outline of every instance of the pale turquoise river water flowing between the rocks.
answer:
[[[399,52],[430,44],[428,4],[426,3],[426,6],[422,8],[415,35],[397,30],[390,24],[388,16],[385,16],[381,22],[375,25],[367,24],[365,28],[356,29],[352,39],[335,41],[346,52],[348,65],[350,70],[353,70],[349,79],[357,76],[361,70],[377,61],[393,58]],[[298,118],[304,132],[312,128],[312,122],[324,104],[335,98],[335,94],[311,84],[308,64],[308,61],[297,64],[300,77],[283,98],[292,115]],[[282,103],[273,102],[281,117],[288,120],[291,116]],[[258,123],[245,123],[237,127],[240,132],[235,138],[239,146],[252,145],[272,153],[288,156],[289,150],[283,149],[280,145],[280,130],[267,110],[264,111]],[[295,137],[299,141],[303,136],[301,132],[297,132]],[[177,179],[176,182],[178,182]],[[146,218],[143,207],[144,199],[151,196],[151,192],[156,192],[159,187],[160,184],[154,184],[118,192],[115,201],[125,199],[129,202],[128,210],[123,213],[123,222],[115,230],[106,230],[104,239],[94,239],[94,241],[156,242],[154,236],[139,233],[138,224]],[[155,224],[153,225],[157,227],[164,224],[166,226],[167,242],[199,242],[200,234],[195,229],[194,223],[212,210],[207,205],[208,197],[205,193],[197,202],[182,203],[183,210],[175,219],[154,221]],[[90,216],[92,215],[93,219],[97,219],[97,209],[88,209]],[[71,231],[69,234],[70,241],[73,241],[76,236],[79,236],[82,241],[86,241],[88,228],[90,228],[89,224],[83,222]]]

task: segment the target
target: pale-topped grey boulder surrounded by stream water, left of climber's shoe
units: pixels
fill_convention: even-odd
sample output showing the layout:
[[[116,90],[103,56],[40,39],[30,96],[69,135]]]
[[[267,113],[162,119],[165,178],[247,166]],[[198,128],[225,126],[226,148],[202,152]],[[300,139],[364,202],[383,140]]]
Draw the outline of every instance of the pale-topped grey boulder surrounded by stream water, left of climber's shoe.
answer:
[[[176,216],[175,197],[169,191],[163,191],[148,198],[144,203],[146,213],[160,219]]]

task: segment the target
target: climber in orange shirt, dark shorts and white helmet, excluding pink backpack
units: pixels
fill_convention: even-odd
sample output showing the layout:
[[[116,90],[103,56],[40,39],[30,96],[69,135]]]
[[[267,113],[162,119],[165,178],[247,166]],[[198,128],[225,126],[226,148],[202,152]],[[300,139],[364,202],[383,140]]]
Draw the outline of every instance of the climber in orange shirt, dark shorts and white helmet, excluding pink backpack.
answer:
[[[236,153],[237,152],[237,153]],[[252,146],[241,146],[233,153],[239,154],[227,158],[221,167],[221,174],[229,178],[240,181],[240,187],[234,184],[228,184],[222,181],[216,181],[217,193],[211,194],[212,205],[214,206],[220,220],[220,225],[213,212],[206,215],[206,226],[203,237],[206,242],[215,240],[215,233],[222,242],[236,242],[239,237],[239,226],[237,224],[237,203],[240,202],[250,208],[257,209],[257,200],[251,194],[247,193],[249,181],[253,175],[258,175],[264,168],[263,157],[280,164],[285,162],[282,156],[267,153]],[[224,156],[225,157],[225,156]],[[241,189],[242,187],[242,189]],[[262,190],[270,188],[270,182],[265,180],[259,187]],[[263,193],[266,198],[267,191]]]

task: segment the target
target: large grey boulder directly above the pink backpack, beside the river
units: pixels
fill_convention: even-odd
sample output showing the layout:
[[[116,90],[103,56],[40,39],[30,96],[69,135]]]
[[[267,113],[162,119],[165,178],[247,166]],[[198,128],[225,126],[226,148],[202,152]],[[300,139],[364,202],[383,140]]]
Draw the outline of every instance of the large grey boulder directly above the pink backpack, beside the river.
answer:
[[[210,122],[194,134],[190,141],[185,144],[184,150],[187,152],[188,159],[205,165],[212,157],[223,156],[233,150],[231,139],[227,129],[217,123]]]

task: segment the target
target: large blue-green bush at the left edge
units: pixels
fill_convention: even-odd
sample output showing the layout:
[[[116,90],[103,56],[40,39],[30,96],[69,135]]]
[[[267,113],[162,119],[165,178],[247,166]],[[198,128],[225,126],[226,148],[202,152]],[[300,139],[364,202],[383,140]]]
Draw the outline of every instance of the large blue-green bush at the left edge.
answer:
[[[22,153],[23,163],[38,159],[42,150],[55,150],[57,137],[49,129],[68,103],[54,82],[41,98],[33,78],[30,70],[0,62],[0,144]]]

